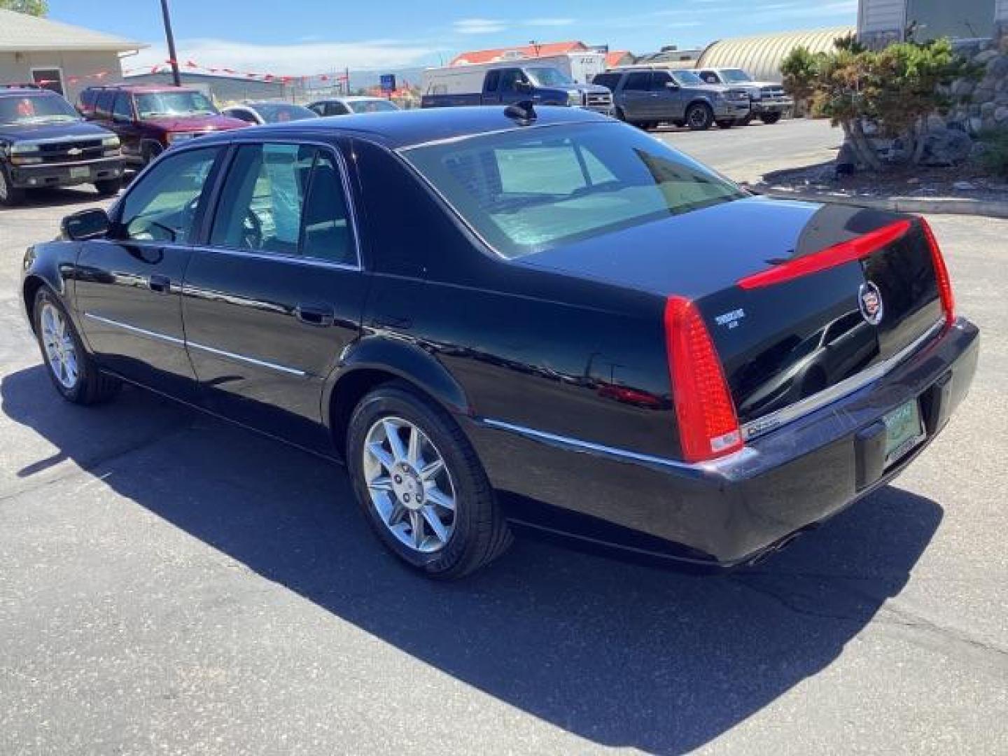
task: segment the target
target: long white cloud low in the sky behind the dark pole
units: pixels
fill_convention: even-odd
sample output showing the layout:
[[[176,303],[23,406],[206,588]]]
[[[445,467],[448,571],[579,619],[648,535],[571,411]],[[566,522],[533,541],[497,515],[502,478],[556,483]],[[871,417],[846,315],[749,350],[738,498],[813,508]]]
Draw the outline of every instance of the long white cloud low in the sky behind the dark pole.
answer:
[[[438,52],[434,46],[396,39],[305,44],[247,44],[227,39],[180,39],[178,61],[193,60],[203,68],[233,69],[257,74],[304,76],[350,69],[394,69],[420,64]],[[163,64],[163,44],[152,44],[137,55],[123,58],[124,69]],[[182,69],[185,70],[184,68]]]

